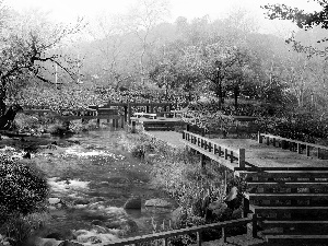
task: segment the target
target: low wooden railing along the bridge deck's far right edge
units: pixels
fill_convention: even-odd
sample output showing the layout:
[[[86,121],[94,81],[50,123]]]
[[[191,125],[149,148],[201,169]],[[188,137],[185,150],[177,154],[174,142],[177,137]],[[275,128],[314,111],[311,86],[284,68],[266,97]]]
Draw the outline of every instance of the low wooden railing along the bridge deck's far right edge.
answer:
[[[290,151],[296,151],[298,154],[303,154],[305,151],[306,156],[311,155],[311,150],[315,150],[316,156],[318,159],[324,159],[324,156],[323,156],[324,152],[326,152],[326,153],[328,152],[328,147],[258,132],[258,142],[262,143],[263,140],[266,141],[267,145],[270,145],[270,143],[272,143],[273,147],[277,147],[277,144],[280,143],[279,145],[282,149],[289,149]]]

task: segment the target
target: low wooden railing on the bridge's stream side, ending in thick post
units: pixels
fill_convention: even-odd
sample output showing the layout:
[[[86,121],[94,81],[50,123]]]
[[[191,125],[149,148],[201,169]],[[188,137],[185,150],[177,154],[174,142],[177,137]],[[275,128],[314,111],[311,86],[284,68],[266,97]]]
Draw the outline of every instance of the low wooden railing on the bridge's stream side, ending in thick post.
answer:
[[[186,130],[183,132],[183,139],[204,151],[218,155],[219,157],[230,160],[231,163],[237,162],[239,168],[245,168],[245,149],[234,149],[224,144],[219,144],[218,142]]]

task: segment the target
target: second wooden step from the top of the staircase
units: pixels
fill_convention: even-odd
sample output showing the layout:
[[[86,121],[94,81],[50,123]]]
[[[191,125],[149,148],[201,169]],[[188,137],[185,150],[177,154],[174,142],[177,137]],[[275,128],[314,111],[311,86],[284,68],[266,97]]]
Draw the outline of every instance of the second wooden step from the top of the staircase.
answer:
[[[328,194],[327,183],[247,183],[249,194]]]

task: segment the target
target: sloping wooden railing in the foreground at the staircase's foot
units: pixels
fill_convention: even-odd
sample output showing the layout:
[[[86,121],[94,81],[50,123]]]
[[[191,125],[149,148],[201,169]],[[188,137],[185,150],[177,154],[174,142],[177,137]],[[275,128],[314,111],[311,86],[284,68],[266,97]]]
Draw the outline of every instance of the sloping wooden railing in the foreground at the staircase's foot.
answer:
[[[257,236],[257,220],[256,216],[253,218],[244,218],[244,219],[238,219],[238,220],[232,220],[232,221],[225,221],[225,222],[220,222],[220,223],[213,223],[213,224],[207,224],[207,225],[200,225],[200,226],[192,226],[188,229],[180,229],[180,230],[173,230],[173,231],[167,231],[167,232],[161,232],[161,233],[154,233],[150,235],[144,235],[144,236],[137,236],[137,237],[131,237],[131,238],[126,238],[126,239],[120,239],[114,243],[106,244],[104,246],[124,246],[124,245],[138,245],[140,243],[144,242],[152,242],[152,241],[163,241],[163,245],[167,246],[168,245],[168,238],[169,237],[175,237],[175,236],[180,236],[180,235],[186,235],[186,234],[191,234],[196,233],[197,234],[197,245],[201,245],[202,238],[201,238],[201,232],[208,229],[218,229],[222,231],[222,241],[225,243],[226,242],[226,229],[227,227],[233,227],[233,226],[239,226],[239,225],[245,225],[248,223],[253,223],[253,236]]]

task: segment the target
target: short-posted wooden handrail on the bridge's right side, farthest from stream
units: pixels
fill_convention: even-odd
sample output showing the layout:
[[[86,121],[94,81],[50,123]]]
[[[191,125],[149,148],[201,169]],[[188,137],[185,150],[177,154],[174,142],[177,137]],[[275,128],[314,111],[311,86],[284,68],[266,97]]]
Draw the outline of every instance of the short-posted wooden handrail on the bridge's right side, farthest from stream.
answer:
[[[277,140],[280,140],[282,142],[281,148],[284,148],[285,142],[294,143],[294,144],[297,145],[297,153],[298,154],[302,154],[302,147],[305,147],[306,156],[309,156],[309,149],[311,148],[317,149],[317,157],[318,159],[321,156],[320,155],[321,150],[328,151],[328,147],[318,145],[318,144],[314,144],[314,143],[309,143],[309,142],[302,142],[302,141],[298,141],[298,140],[293,140],[293,139],[288,139],[288,138],[282,138],[280,136],[266,134],[266,133],[258,132],[258,142],[259,143],[263,142],[263,138],[266,138],[267,145],[270,144],[270,139],[272,139],[272,142],[273,142],[274,147],[276,147],[276,141]]]

